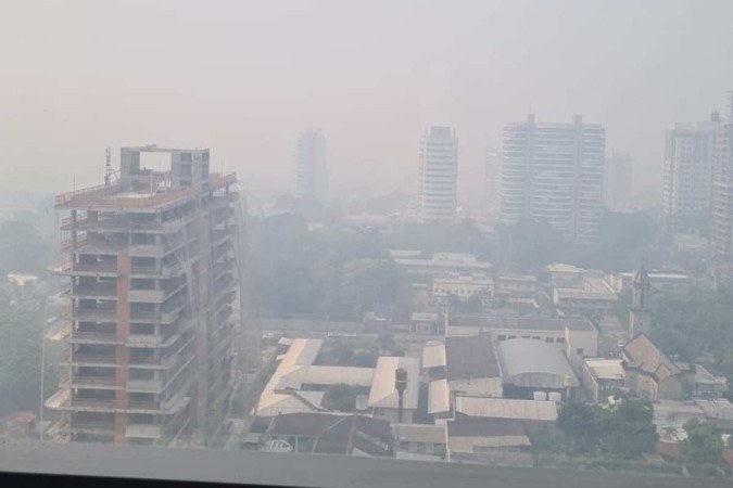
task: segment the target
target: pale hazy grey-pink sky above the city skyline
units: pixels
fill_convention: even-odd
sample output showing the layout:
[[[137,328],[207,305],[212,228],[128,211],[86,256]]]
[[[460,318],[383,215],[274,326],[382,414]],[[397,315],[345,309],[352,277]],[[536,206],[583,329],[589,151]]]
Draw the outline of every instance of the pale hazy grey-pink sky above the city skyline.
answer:
[[[731,0],[5,0],[0,189],[94,184],[104,147],[155,142],[285,191],[298,132],[320,127],[334,193],[387,193],[446,124],[466,193],[532,111],[605,125],[654,202],[665,128],[724,108],[732,26]]]

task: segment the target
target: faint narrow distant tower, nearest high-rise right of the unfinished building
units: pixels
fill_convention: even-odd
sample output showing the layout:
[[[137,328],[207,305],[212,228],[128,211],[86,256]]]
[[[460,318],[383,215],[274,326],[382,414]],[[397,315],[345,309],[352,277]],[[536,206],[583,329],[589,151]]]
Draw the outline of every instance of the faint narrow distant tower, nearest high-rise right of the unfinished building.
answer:
[[[326,137],[319,129],[309,129],[298,138],[295,193],[328,200],[328,164]]]

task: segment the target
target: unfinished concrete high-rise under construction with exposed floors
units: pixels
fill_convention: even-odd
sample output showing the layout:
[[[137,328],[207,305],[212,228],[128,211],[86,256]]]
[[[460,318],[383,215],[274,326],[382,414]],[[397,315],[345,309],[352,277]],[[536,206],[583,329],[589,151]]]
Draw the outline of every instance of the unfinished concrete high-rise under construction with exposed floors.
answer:
[[[146,153],[169,155],[170,168],[142,167]],[[56,439],[205,445],[223,425],[241,216],[236,176],[208,169],[208,150],[123,147],[116,181],[56,196],[71,323],[46,401],[60,412]]]

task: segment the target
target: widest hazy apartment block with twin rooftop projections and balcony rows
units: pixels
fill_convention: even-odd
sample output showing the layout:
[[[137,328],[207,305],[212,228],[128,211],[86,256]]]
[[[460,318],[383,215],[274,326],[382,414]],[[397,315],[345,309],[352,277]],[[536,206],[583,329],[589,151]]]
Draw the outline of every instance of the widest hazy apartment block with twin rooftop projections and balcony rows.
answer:
[[[602,126],[526,123],[504,127],[502,147],[501,219],[545,220],[568,240],[597,240],[604,205]]]

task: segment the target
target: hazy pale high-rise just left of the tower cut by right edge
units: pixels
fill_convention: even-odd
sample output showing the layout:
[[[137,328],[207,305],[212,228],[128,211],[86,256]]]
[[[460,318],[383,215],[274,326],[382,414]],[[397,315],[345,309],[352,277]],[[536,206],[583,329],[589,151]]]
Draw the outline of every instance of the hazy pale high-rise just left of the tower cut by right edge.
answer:
[[[716,120],[667,131],[662,216],[669,231],[705,227],[710,211]]]

